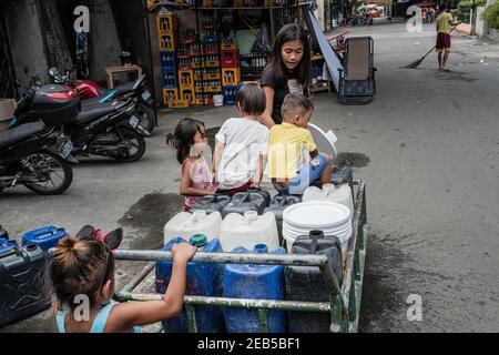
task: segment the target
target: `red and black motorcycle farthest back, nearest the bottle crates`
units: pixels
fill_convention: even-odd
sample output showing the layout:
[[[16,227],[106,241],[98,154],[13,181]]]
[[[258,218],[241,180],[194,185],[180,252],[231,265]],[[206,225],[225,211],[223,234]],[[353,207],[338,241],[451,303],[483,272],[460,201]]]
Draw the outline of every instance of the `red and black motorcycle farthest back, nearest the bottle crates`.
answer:
[[[150,133],[155,128],[155,103],[151,91],[145,84],[145,75],[136,81],[118,85],[112,90],[103,89],[92,80],[78,80],[74,69],[68,70],[64,75],[61,75],[55,68],[52,68],[49,70],[49,78],[52,83],[65,84],[75,89],[78,95],[82,99],[83,106],[130,98],[135,101],[134,115],[140,119],[141,126]]]

